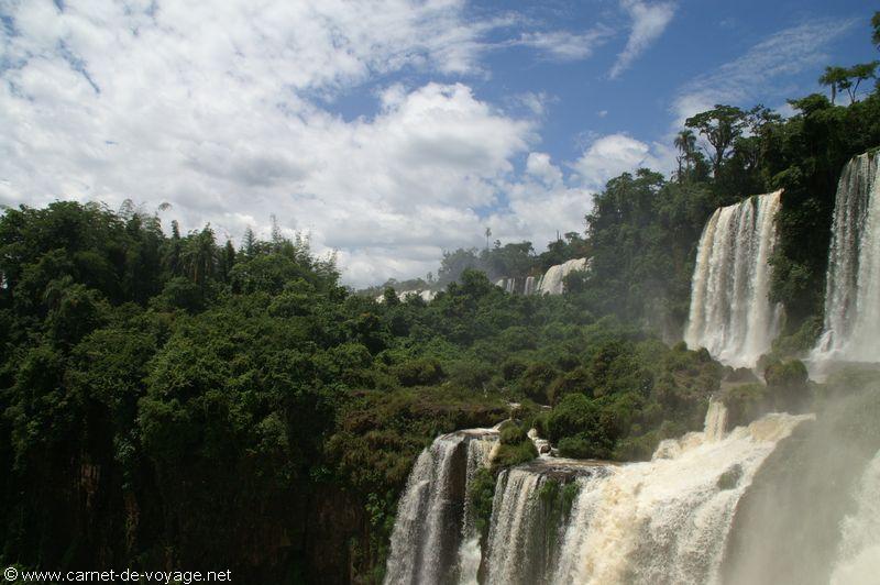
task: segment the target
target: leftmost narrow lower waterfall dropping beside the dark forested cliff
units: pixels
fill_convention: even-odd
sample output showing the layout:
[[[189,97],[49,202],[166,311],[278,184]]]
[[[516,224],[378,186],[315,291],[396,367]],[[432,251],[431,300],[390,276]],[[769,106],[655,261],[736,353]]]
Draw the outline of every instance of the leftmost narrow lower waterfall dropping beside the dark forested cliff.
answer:
[[[460,544],[473,532],[470,481],[495,441],[492,429],[459,431],[421,452],[397,507],[386,584],[442,583],[457,570]]]

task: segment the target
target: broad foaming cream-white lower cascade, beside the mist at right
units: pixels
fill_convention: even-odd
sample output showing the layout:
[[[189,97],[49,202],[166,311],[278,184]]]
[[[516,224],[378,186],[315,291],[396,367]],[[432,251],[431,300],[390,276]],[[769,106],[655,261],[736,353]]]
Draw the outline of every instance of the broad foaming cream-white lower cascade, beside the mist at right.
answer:
[[[721,409],[723,407],[716,407]],[[707,421],[724,418],[718,410]],[[807,417],[768,415],[664,441],[651,462],[584,482],[554,583],[702,584],[719,566],[737,501],[777,443]]]

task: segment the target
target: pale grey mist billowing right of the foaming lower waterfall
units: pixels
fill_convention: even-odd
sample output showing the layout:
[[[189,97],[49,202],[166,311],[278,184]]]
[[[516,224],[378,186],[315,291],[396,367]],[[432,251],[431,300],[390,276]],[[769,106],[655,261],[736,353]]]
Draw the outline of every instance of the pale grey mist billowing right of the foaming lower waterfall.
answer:
[[[829,380],[815,422],[756,474],[732,526],[725,584],[876,583],[880,387],[859,378]]]

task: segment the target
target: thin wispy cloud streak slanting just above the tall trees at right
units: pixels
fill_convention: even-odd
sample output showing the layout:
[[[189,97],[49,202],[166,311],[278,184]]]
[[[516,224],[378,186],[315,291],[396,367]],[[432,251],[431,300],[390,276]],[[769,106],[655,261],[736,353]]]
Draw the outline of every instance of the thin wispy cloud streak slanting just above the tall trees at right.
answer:
[[[741,57],[685,85],[672,106],[675,126],[716,103],[751,106],[759,97],[780,100],[791,91],[791,76],[828,63],[825,47],[854,24],[851,20],[810,22],[770,35]]]

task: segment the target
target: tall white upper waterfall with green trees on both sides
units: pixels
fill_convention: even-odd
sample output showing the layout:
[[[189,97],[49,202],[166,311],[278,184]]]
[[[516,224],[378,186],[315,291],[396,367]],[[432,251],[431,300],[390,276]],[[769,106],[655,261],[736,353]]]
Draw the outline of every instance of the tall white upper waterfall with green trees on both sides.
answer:
[[[768,262],[780,195],[716,209],[700,239],[684,341],[729,365],[754,366],[778,333]]]

